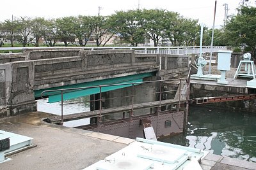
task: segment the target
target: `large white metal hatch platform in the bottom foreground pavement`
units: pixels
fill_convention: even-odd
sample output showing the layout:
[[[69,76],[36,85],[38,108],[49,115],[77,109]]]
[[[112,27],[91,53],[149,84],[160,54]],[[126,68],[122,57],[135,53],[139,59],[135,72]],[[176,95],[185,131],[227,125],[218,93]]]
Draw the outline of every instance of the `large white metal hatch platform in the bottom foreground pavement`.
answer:
[[[196,148],[137,138],[129,146],[109,155],[104,160],[96,162],[92,166],[86,167],[84,170],[202,170],[198,161],[207,153]]]

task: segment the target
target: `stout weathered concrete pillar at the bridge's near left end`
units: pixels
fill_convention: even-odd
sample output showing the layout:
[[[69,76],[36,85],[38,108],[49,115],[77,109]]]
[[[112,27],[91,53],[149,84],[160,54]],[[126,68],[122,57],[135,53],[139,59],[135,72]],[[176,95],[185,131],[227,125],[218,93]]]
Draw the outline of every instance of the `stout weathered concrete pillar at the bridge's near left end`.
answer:
[[[0,65],[1,115],[17,115],[36,111],[34,97],[34,66],[31,61]]]

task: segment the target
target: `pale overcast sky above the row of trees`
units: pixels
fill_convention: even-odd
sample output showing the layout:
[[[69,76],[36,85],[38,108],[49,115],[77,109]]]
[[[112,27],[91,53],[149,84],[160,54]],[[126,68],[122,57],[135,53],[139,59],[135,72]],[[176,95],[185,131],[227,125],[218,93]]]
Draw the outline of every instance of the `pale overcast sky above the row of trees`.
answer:
[[[223,25],[227,3],[228,14],[236,13],[242,0],[217,0],[216,27]],[[215,0],[2,0],[0,21],[13,17],[58,18],[77,15],[111,15],[120,10],[164,9],[175,11],[186,18],[199,19],[208,27],[212,27]],[[255,3],[251,3],[253,5]]]

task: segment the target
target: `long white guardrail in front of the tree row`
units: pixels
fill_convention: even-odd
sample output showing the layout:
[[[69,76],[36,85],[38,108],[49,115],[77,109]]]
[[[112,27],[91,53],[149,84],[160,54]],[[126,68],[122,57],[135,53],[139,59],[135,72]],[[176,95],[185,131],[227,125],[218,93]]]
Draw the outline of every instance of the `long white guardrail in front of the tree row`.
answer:
[[[84,48],[86,50],[104,50],[104,49],[131,49],[135,50],[135,53],[147,53],[147,54],[175,54],[175,55],[189,55],[192,53],[199,53],[200,46],[92,46],[92,47],[0,47],[0,50],[22,50],[22,49],[45,49],[45,48]],[[227,46],[212,46],[212,53],[219,50],[227,50]],[[203,46],[202,53],[210,53],[211,46]]]

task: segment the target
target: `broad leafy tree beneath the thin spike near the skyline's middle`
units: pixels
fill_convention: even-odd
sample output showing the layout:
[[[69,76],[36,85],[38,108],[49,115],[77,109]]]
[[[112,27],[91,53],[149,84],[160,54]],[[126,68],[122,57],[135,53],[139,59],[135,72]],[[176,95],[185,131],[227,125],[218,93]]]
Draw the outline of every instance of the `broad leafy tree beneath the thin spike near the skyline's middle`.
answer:
[[[138,10],[116,11],[109,17],[109,22],[118,33],[120,43],[131,43],[131,46],[144,43],[145,31],[138,24],[140,22]]]

